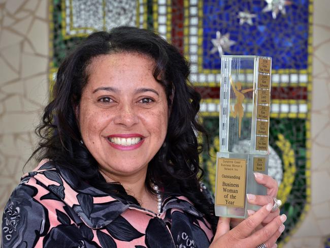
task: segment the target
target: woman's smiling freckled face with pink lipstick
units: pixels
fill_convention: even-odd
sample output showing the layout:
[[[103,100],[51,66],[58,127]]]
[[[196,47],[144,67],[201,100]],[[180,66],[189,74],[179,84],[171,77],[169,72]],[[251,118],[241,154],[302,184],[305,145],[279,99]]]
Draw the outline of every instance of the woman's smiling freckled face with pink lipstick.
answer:
[[[152,76],[153,66],[147,56],[115,53],[94,58],[88,69],[77,108],[79,126],[84,144],[110,180],[146,173],[165,139],[168,102]]]

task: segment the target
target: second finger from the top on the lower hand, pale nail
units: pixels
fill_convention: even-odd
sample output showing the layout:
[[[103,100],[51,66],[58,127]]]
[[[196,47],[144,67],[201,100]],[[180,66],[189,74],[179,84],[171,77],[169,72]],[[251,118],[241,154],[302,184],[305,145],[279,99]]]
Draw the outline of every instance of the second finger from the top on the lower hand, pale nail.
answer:
[[[253,215],[252,215],[253,216]],[[286,215],[282,214],[278,217],[276,217],[272,222],[267,224],[265,227],[261,228],[260,230],[253,233],[251,236],[249,236],[247,239],[249,240],[249,243],[252,243],[254,246],[257,246],[261,243],[269,242],[267,247],[272,247],[272,245],[275,243],[271,243],[272,238],[279,235],[279,232],[282,229],[283,223],[286,221]],[[282,231],[283,232],[283,231]],[[275,235],[275,236],[274,236]]]

